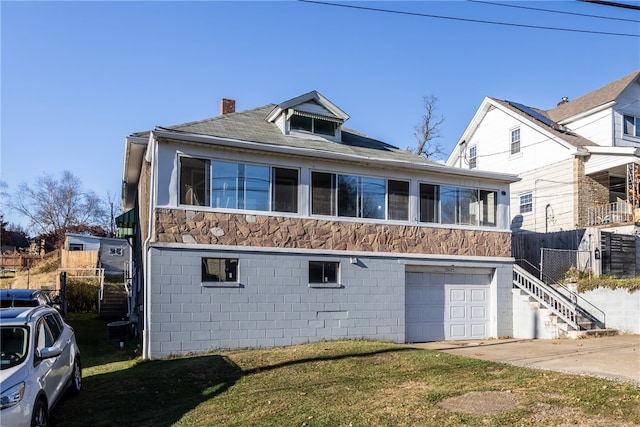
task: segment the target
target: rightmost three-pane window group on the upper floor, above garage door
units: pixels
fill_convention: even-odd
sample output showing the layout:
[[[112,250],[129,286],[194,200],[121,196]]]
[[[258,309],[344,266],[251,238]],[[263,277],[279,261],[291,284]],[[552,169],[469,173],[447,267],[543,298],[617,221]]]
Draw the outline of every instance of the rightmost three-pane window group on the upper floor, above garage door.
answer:
[[[497,226],[495,191],[420,184],[420,222]]]

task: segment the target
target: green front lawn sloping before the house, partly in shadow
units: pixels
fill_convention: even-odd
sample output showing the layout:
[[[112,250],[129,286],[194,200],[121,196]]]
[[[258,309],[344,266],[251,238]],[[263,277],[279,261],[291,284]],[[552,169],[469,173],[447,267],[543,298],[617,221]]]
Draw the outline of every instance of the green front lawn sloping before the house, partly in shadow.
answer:
[[[403,345],[336,341],[155,361],[72,315],[84,384],[54,426],[498,426],[640,424],[640,388]],[[508,391],[495,415],[443,409],[467,392]]]

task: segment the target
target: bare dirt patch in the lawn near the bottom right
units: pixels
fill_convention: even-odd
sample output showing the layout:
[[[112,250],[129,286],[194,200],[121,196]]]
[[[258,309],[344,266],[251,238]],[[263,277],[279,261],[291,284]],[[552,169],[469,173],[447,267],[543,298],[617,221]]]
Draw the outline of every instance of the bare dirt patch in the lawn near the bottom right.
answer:
[[[442,409],[471,415],[496,415],[518,407],[518,396],[508,391],[472,391],[438,404]]]

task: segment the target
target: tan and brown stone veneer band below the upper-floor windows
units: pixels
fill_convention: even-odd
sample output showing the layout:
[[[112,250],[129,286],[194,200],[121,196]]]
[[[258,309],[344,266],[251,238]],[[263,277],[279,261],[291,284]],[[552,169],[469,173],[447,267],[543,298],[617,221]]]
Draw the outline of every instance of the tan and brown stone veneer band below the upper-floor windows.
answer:
[[[154,241],[226,246],[511,256],[511,234],[429,226],[157,209]]]

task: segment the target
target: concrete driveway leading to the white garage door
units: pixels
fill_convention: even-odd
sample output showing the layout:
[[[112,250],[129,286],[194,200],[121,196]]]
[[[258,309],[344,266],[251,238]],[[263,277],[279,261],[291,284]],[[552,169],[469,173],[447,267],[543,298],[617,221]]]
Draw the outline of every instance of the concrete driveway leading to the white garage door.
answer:
[[[439,341],[409,345],[458,356],[589,375],[640,386],[640,335],[561,340]]]

